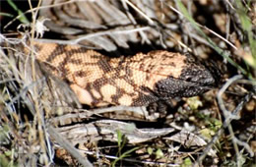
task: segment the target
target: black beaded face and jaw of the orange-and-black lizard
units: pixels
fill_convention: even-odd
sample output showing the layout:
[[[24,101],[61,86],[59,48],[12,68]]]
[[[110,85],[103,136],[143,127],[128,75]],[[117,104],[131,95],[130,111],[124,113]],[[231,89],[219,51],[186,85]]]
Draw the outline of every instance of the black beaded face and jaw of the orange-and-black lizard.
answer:
[[[206,66],[190,57],[184,62],[179,77],[172,76],[156,83],[159,97],[190,97],[212,89],[218,79]]]

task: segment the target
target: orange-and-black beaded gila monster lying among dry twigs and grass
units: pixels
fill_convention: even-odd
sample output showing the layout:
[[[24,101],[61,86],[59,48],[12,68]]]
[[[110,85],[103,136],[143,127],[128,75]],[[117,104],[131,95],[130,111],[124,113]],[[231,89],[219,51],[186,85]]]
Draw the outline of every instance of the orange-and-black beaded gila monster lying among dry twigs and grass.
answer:
[[[109,58],[79,45],[34,42],[36,59],[65,80],[81,103],[147,106],[160,99],[195,96],[216,83],[189,55],[163,50]]]

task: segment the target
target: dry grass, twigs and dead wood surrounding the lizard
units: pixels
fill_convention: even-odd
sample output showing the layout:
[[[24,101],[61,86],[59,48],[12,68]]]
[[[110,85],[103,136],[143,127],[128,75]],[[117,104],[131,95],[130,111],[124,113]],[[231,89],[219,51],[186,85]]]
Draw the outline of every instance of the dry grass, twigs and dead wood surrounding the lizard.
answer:
[[[255,164],[255,2],[28,0],[10,22],[3,6],[12,3],[1,5],[9,24],[0,34],[0,166]],[[163,109],[90,109],[35,61],[26,41],[42,36],[110,56],[190,52],[223,76],[209,92]]]

